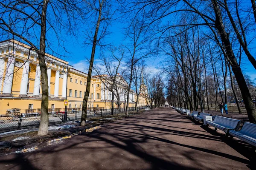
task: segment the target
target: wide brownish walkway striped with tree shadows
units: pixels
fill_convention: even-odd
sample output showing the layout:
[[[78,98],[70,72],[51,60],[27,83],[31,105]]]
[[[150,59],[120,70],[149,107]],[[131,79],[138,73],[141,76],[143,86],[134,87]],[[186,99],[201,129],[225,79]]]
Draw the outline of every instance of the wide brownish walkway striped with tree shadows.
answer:
[[[254,169],[254,153],[170,108],[106,124],[36,152],[0,157],[1,170]],[[254,157],[255,158],[255,157]]]

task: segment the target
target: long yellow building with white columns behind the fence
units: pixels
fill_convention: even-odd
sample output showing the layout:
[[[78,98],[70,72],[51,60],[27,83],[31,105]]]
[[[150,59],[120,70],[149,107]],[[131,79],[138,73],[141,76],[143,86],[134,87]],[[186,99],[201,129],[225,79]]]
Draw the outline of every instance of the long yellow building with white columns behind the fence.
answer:
[[[41,80],[38,57],[35,51],[29,54],[29,46],[16,40],[0,42],[0,114],[14,109],[21,113],[40,112]],[[86,90],[87,74],[73,68],[67,61],[46,54],[47,75],[49,85],[49,111],[63,110],[64,99],[69,100],[68,108],[81,108]],[[61,71],[68,75],[61,74]],[[120,77],[122,77],[120,75]],[[67,83],[67,84],[66,84]],[[120,86],[120,102],[124,107],[125,87],[123,80]],[[105,84],[98,77],[91,79],[89,108],[111,108],[111,92],[104,88]],[[131,91],[129,107],[133,106],[136,94]],[[115,98],[116,102],[116,98]],[[138,106],[146,105],[144,95],[140,95]],[[135,104],[134,104],[135,106]],[[117,107],[115,104],[114,107]]]

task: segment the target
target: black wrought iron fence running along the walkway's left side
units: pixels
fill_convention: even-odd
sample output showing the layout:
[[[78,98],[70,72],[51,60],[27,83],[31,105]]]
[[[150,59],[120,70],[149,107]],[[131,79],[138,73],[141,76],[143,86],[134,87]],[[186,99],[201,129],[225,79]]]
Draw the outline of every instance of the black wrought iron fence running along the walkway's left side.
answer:
[[[138,107],[137,110],[145,107]],[[128,111],[134,111],[135,108],[128,108]],[[125,109],[121,108],[120,113],[124,113]],[[87,119],[96,116],[111,115],[111,109],[93,108],[87,110]],[[113,114],[117,114],[118,109],[113,109]],[[0,116],[0,133],[25,128],[39,127],[41,113],[21,113],[20,115],[4,115]],[[81,111],[73,110],[67,112],[68,121],[81,121]],[[49,125],[55,125],[64,122],[64,111],[49,113]]]

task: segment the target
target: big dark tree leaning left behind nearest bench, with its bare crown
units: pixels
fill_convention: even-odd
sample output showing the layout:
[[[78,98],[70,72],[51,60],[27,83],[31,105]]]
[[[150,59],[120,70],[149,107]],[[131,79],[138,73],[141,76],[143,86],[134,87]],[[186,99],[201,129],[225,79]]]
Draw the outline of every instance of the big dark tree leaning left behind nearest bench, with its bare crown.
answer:
[[[236,49],[231,43],[232,36],[237,34],[237,32],[230,31],[230,27],[228,27],[230,19],[228,18],[227,11],[224,10],[225,7],[222,0],[177,0],[172,3],[167,0],[143,1],[142,3],[142,1],[139,0],[129,2],[127,6],[128,10],[135,10],[137,15],[146,13],[147,16],[150,16],[148,17],[148,20],[151,21],[148,21],[149,25],[152,23],[160,23],[160,21],[164,21],[166,17],[173,18],[174,20],[172,20],[172,22],[165,22],[165,24],[159,24],[157,28],[154,28],[154,30],[157,30],[154,32],[159,34],[160,37],[163,37],[163,35],[169,32],[172,33],[171,37],[175,37],[183,32],[183,30],[177,32],[177,28],[182,26],[187,26],[186,30],[204,26],[205,29],[201,30],[201,32],[207,34],[208,38],[213,38],[216,45],[220,47],[241,89],[241,95],[244,99],[248,118],[250,122],[256,123],[256,108],[253,105],[253,100],[246,84],[244,74],[234,54],[234,50]],[[170,8],[174,10],[170,11]],[[177,20],[177,18],[186,20],[186,23]],[[190,20],[188,20],[188,18]],[[156,24],[154,26],[156,26]],[[245,39],[243,38],[243,40]]]

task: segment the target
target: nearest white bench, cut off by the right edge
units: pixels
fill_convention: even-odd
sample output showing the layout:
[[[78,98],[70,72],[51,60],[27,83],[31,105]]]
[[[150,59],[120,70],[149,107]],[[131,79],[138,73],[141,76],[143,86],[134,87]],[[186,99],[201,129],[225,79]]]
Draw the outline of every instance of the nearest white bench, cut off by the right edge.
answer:
[[[238,128],[228,131],[231,138],[233,136],[256,147],[256,124],[245,122],[241,130]]]

